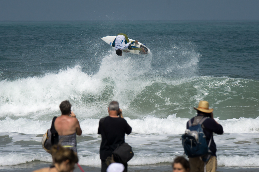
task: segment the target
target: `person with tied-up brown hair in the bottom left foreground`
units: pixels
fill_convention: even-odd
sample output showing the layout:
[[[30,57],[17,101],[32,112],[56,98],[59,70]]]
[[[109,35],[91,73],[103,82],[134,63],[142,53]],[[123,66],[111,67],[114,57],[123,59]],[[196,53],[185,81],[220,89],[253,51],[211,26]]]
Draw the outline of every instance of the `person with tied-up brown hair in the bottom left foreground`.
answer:
[[[51,149],[51,155],[55,162],[52,166],[33,172],[69,172],[73,171],[75,163],[78,163],[77,154],[61,145],[54,145]]]

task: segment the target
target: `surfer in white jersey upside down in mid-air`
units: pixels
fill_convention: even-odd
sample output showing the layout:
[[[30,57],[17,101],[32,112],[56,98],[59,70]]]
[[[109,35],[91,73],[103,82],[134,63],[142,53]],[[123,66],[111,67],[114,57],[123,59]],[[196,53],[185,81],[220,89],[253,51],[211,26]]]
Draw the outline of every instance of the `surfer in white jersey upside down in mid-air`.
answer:
[[[118,56],[122,56],[122,50],[125,50],[127,48],[129,50],[139,50],[142,51],[143,54],[147,54],[143,47],[138,48],[136,46],[131,46],[134,43],[138,44],[138,41],[136,40],[129,42],[129,38],[126,34],[118,34],[115,40],[113,41],[112,46],[115,47],[115,51]]]

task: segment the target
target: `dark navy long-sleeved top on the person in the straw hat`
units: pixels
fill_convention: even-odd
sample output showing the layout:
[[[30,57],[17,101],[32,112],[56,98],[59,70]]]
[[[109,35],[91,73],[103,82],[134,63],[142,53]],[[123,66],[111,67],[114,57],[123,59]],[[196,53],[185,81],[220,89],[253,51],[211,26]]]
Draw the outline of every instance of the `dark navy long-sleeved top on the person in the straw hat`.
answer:
[[[197,116],[200,116],[200,114],[198,114]],[[194,117],[191,119],[192,123],[193,123],[193,120],[194,120]],[[206,136],[207,144],[209,144],[210,138],[212,136],[212,141],[210,144],[210,151],[212,151],[213,156],[216,156],[217,148],[216,148],[216,144],[213,139],[213,132],[216,134],[223,134],[223,128],[220,124],[217,124],[216,121],[212,118],[207,118],[202,124],[204,126],[203,132]],[[187,122],[186,128],[187,129],[189,128],[188,122]]]

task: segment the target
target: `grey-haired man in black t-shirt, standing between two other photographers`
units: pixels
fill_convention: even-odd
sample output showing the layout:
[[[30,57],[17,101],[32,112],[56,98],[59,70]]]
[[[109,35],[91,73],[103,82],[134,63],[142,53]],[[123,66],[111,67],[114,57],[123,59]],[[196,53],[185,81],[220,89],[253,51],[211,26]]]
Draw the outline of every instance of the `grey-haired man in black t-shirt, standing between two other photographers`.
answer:
[[[108,167],[105,163],[106,158],[111,157],[113,150],[115,150],[119,144],[125,142],[125,133],[130,134],[132,130],[127,121],[123,118],[117,101],[112,101],[109,104],[108,113],[109,116],[99,121],[98,127],[98,134],[102,135],[100,146],[100,159],[102,161],[101,172],[106,172]],[[127,163],[123,165],[125,166],[125,172],[127,171]]]

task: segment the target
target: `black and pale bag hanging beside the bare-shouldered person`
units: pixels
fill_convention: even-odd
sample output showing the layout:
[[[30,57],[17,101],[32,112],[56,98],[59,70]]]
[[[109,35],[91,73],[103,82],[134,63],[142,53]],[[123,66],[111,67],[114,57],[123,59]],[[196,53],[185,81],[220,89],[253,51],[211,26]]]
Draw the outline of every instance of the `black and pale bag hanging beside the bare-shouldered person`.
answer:
[[[47,130],[47,132],[43,135],[41,140],[41,145],[43,149],[46,150],[47,153],[50,153],[51,147],[54,144],[58,144],[58,132],[55,130],[54,122],[56,120],[56,116],[52,119],[51,128]]]

